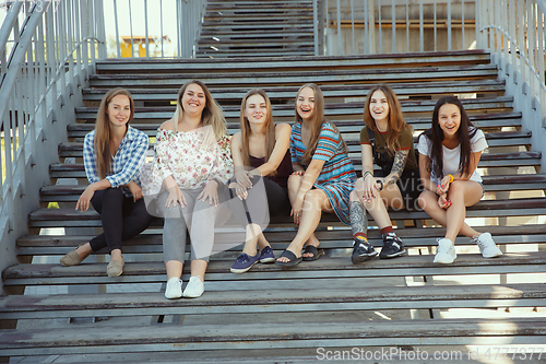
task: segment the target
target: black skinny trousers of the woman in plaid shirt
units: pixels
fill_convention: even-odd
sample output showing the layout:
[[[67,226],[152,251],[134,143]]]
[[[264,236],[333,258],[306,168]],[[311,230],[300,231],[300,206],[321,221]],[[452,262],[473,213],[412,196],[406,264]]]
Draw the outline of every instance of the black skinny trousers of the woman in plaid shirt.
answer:
[[[91,249],[108,251],[121,249],[121,242],[142,233],[154,219],[146,211],[144,199],[136,202],[126,197],[121,188],[95,191],[91,199],[93,208],[100,214],[104,233],[91,239]]]

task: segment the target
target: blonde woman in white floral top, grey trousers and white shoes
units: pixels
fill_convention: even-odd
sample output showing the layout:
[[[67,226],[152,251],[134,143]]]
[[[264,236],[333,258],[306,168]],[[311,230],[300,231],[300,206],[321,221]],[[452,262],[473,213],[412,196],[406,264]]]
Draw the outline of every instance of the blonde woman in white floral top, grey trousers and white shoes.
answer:
[[[152,214],[165,218],[163,248],[167,298],[199,297],[214,243],[214,226],[229,216],[224,185],[233,176],[229,137],[222,109],[201,81],[178,92],[177,110],[157,131],[155,156],[144,178]],[[154,211],[155,210],[155,211]],[[221,218],[222,216],[222,218]],[[219,220],[223,221],[219,221]],[[191,238],[191,278],[181,290],[186,230]]]

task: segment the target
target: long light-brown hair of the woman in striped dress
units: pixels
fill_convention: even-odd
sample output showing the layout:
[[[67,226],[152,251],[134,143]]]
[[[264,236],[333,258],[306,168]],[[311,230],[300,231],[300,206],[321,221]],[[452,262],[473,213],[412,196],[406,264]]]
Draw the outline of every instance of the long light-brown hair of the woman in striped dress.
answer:
[[[314,92],[314,107],[313,107],[313,113],[311,115],[311,138],[309,139],[309,145],[304,152],[304,157],[301,158],[301,162],[304,164],[309,164],[312,160],[312,155],[314,154],[314,151],[317,150],[317,144],[319,143],[319,137],[320,137],[320,131],[322,130],[322,124],[327,122],[324,119],[324,95],[322,95],[322,90],[314,84],[314,83],[306,83],[298,90],[298,94],[296,95],[296,122],[301,124],[301,131],[302,131],[302,121],[301,117],[298,114],[298,97],[301,91],[306,87],[311,89]],[[340,131],[335,127],[335,125],[330,121],[330,125],[334,129],[334,131],[340,134]],[[340,134],[340,139],[343,142],[343,146],[345,149],[345,153],[347,152],[347,145],[345,144],[345,141]]]

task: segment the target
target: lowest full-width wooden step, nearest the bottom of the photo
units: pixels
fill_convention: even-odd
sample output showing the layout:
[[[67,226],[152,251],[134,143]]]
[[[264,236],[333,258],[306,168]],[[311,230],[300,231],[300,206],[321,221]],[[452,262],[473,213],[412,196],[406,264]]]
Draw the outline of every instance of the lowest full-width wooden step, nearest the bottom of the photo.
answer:
[[[73,329],[4,330],[0,355],[61,355],[139,351],[227,349],[281,349],[458,344],[536,345],[546,334],[544,318],[390,320],[352,322],[298,322],[176,325]],[[181,334],[181,331],[183,334]]]

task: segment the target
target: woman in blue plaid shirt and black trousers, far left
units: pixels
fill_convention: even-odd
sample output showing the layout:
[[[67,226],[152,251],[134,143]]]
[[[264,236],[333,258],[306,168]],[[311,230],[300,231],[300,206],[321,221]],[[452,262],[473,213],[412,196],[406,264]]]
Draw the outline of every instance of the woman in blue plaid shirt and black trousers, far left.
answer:
[[[61,258],[62,266],[76,266],[92,251],[108,247],[108,277],[123,270],[121,242],[143,232],[151,223],[139,172],[146,157],[147,136],[129,126],[134,115],[131,94],[123,89],[106,93],[98,107],[95,130],[85,136],[83,158],[90,186],[75,206],[87,211],[90,202],[100,214],[104,233]]]

